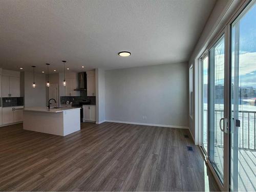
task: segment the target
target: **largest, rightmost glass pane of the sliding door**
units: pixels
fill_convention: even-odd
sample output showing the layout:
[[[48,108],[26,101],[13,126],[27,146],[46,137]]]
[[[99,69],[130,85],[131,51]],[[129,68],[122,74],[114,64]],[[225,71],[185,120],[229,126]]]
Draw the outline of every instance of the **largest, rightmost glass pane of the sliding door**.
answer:
[[[232,191],[256,191],[256,5],[252,2],[231,28]],[[239,125],[240,124],[240,125]]]

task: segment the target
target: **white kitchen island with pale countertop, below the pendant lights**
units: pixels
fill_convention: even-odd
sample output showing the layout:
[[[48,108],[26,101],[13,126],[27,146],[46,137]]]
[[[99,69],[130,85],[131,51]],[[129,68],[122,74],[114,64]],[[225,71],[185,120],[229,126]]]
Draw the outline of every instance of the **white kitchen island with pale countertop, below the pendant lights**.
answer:
[[[24,108],[23,129],[66,136],[80,130],[80,108]]]

